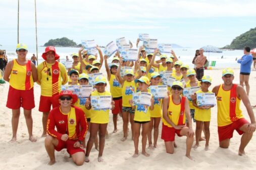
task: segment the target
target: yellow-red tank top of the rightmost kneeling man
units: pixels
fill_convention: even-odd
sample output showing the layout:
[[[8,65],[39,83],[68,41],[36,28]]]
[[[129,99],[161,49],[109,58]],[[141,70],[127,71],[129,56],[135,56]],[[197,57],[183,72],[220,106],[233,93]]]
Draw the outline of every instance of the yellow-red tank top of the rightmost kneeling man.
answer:
[[[233,84],[231,90],[225,91],[223,89],[223,84],[220,85],[217,94],[218,126],[226,126],[243,118],[240,109],[241,100],[236,96],[236,87],[237,84]]]

